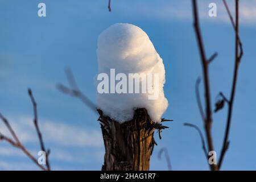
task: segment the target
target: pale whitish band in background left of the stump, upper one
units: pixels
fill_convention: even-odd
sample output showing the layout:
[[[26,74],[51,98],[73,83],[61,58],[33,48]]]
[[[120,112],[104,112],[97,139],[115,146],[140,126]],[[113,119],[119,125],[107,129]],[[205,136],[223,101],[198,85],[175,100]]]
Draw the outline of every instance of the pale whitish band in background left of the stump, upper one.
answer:
[[[16,117],[9,119],[11,126],[23,143],[38,143],[33,119],[31,117]],[[46,143],[59,146],[100,147],[103,146],[100,129],[81,129],[60,122],[39,119],[39,127]],[[1,133],[10,137],[9,131],[1,123]]]

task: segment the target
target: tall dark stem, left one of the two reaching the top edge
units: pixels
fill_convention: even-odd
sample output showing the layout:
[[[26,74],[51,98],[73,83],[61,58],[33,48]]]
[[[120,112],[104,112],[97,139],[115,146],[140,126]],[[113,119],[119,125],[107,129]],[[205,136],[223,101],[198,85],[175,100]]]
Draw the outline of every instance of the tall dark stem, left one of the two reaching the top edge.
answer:
[[[210,103],[210,83],[209,83],[209,73],[208,73],[208,61],[205,54],[203,39],[201,36],[200,26],[199,26],[199,15],[197,11],[197,1],[192,0],[192,9],[193,9],[193,20],[194,20],[194,28],[196,33],[196,40],[199,46],[200,57],[201,57],[201,64],[203,67],[203,76],[204,76],[204,90],[205,90],[205,110],[206,110],[206,117],[204,121],[205,133],[207,135],[207,144],[208,150],[213,150],[213,142],[212,142],[212,134],[211,134],[211,126],[212,126],[212,109]],[[210,169],[217,170],[216,165],[209,165]]]

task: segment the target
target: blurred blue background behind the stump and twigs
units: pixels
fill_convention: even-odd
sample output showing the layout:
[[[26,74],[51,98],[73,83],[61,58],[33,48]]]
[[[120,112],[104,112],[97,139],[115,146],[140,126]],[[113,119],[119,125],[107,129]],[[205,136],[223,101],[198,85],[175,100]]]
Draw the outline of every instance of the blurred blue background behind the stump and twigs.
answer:
[[[44,2],[47,16],[38,17],[38,3]],[[217,3],[217,17],[208,16],[210,2]],[[230,2],[230,1],[229,1]],[[234,4],[230,3],[230,8]],[[38,102],[39,125],[47,147],[51,148],[52,169],[101,169],[104,146],[97,115],[75,98],[56,90],[67,84],[64,68],[72,68],[77,82],[95,101],[97,38],[113,23],[132,23],[150,37],[166,68],[164,92],[169,107],[163,115],[167,123],[162,140],[151,158],[151,169],[166,170],[158,159],[162,147],[168,149],[175,170],[208,170],[199,135],[183,126],[203,123],[196,105],[195,81],[201,76],[199,50],[192,27],[190,1],[0,1],[0,111],[23,143],[36,156],[39,143],[32,126],[30,87]],[[220,0],[199,1],[201,27],[207,55],[218,57],[210,64],[212,102],[218,92],[230,94],[234,65],[234,32]],[[256,2],[241,1],[241,39],[245,55],[239,72],[234,104],[230,146],[222,169],[255,170],[256,85],[255,40]],[[201,85],[203,93],[203,85]],[[226,121],[226,107],[213,115],[213,138],[217,157]],[[2,123],[2,133],[5,133]],[[21,151],[0,143],[0,170],[38,169]]]

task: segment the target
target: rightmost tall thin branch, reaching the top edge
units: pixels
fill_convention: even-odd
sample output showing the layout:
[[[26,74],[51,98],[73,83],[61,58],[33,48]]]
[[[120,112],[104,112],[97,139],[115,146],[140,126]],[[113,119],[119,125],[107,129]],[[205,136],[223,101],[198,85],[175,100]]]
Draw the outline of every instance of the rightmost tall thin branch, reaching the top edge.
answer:
[[[239,68],[240,61],[241,61],[241,58],[243,55],[242,46],[241,46],[242,43],[241,43],[240,37],[239,37],[239,1],[236,0],[236,24],[234,23],[232,15],[230,14],[228,5],[226,5],[226,1],[224,0],[223,2],[226,7],[226,10],[228,11],[228,14],[230,16],[230,19],[232,21],[233,27],[236,32],[236,47],[235,47],[236,50],[235,50],[235,66],[234,66],[234,73],[233,73],[233,83],[232,83],[232,90],[231,90],[230,99],[229,99],[228,117],[227,117],[227,121],[226,121],[225,136],[224,136],[224,140],[223,140],[222,148],[221,148],[221,155],[220,155],[220,159],[218,160],[218,168],[221,168],[221,164],[223,162],[224,155],[225,155],[226,151],[228,150],[228,146],[229,146],[228,137],[229,137],[230,124],[231,124],[231,119],[232,119],[234,96],[236,94],[238,68]],[[239,48],[240,48],[240,53],[238,50]]]

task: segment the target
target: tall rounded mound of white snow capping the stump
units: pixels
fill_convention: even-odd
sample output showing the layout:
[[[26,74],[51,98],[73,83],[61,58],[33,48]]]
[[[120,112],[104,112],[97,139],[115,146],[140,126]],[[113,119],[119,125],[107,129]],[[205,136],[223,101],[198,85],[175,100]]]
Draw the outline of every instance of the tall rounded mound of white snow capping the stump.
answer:
[[[113,24],[105,31],[103,31],[98,37],[98,73],[106,73],[109,77],[109,81],[106,82],[108,86],[99,86],[100,82],[106,81],[105,77],[99,78],[97,81],[97,106],[101,109],[105,115],[113,118],[118,122],[129,121],[133,118],[134,110],[138,108],[146,108],[150,118],[154,122],[160,122],[163,113],[166,111],[168,101],[164,97],[164,82],[165,82],[165,70],[163,60],[156,52],[153,44],[148,38],[147,34],[139,27],[128,23]],[[124,73],[127,76],[127,80],[123,78],[113,78],[110,74],[110,69],[114,69],[115,76],[118,73]],[[129,73],[144,73],[146,75],[152,75],[152,82],[148,84],[152,88],[153,92],[142,93],[142,88],[139,89],[139,93],[129,93]],[[154,77],[154,74],[158,75],[158,79]],[[114,86],[117,86],[118,82],[123,81],[123,84],[127,83],[127,93],[117,93],[116,87],[111,85],[114,79]],[[144,78],[145,79],[145,78]],[[112,80],[112,81],[111,81]],[[147,80],[147,77],[146,77]],[[134,80],[133,80],[134,81]],[[156,84],[155,81],[158,81]],[[112,83],[111,83],[112,82]],[[143,78],[139,80],[142,86]],[[134,87],[135,82],[133,83]],[[120,86],[120,85],[119,85]],[[99,93],[99,87],[108,89],[109,92]],[[112,93],[110,89],[115,89]],[[120,87],[120,88],[123,88]],[[135,92],[135,91],[134,91]],[[156,92],[158,94],[156,94]],[[156,95],[155,99],[149,99],[151,96]]]

